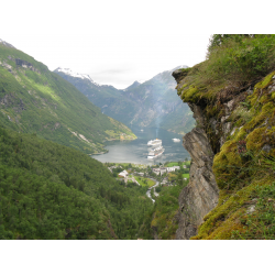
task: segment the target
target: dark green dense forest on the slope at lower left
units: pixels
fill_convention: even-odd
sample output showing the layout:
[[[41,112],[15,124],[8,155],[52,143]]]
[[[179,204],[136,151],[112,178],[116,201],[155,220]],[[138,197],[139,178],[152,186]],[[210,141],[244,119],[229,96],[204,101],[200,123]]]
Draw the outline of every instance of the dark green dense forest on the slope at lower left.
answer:
[[[79,151],[0,128],[0,239],[136,239],[145,194]]]

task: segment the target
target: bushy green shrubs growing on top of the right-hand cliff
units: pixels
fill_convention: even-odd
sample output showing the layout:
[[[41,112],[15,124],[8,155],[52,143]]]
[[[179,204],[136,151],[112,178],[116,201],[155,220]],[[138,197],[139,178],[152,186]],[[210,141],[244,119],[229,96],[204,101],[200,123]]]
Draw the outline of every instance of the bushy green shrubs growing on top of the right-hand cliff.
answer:
[[[219,41],[217,36],[213,40]],[[222,41],[222,43],[221,43]],[[207,61],[195,66],[198,84],[242,86],[275,68],[275,35],[231,35],[210,43]]]

